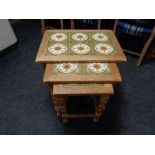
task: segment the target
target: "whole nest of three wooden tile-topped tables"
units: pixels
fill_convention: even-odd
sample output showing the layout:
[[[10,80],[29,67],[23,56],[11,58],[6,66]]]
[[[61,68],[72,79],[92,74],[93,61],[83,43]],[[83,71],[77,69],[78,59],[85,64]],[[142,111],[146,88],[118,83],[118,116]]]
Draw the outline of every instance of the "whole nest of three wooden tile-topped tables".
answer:
[[[43,82],[49,84],[57,116],[64,122],[84,117],[98,121],[113,85],[122,82],[116,63],[125,61],[111,30],[47,30],[36,58],[46,66]],[[67,114],[66,98],[72,95],[90,95],[95,113]]]

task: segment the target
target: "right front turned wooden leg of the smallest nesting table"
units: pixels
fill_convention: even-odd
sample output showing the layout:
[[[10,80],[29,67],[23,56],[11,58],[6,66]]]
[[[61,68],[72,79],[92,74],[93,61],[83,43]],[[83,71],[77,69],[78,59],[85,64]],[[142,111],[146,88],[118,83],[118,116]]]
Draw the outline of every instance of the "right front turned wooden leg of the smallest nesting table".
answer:
[[[105,110],[105,106],[109,100],[109,96],[100,96],[99,103],[96,107],[94,122],[97,122]]]

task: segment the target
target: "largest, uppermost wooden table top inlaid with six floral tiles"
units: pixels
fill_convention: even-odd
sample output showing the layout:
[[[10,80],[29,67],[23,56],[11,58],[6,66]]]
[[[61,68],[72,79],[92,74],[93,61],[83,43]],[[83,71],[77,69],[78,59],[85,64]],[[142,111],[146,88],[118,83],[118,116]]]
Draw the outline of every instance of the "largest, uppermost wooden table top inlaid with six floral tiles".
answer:
[[[36,62],[123,62],[126,57],[111,30],[47,30]]]

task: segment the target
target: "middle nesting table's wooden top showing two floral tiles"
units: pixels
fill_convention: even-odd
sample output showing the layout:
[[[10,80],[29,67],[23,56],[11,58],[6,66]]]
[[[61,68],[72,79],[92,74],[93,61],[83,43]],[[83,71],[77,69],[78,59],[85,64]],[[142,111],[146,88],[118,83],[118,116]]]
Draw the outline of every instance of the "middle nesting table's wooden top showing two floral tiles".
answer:
[[[50,83],[117,83],[121,75],[115,63],[47,64],[43,78]]]

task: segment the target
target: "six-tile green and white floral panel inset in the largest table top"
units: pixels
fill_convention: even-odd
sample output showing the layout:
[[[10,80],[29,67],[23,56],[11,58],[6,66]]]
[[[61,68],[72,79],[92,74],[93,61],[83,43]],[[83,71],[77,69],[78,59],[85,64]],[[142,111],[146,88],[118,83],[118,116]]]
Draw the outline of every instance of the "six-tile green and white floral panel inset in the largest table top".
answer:
[[[46,55],[114,55],[110,37],[101,32],[52,32]]]

